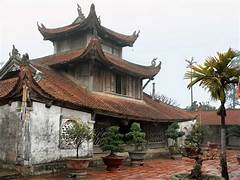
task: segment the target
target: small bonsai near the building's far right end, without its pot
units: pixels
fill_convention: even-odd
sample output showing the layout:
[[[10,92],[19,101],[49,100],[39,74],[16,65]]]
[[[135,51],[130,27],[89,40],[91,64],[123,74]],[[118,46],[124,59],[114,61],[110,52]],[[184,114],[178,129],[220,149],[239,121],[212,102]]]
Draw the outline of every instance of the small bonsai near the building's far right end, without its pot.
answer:
[[[165,132],[166,137],[174,141],[173,146],[176,151],[179,151],[177,139],[182,137],[184,134],[185,133],[183,131],[179,131],[179,125],[177,122],[172,123]]]

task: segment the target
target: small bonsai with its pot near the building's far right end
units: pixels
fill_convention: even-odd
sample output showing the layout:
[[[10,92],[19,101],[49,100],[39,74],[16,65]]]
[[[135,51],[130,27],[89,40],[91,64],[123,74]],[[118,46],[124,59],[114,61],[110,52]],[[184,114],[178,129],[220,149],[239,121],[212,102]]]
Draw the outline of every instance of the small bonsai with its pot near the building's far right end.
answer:
[[[172,123],[165,132],[166,137],[174,141],[174,144],[168,147],[171,158],[173,159],[179,159],[182,157],[181,149],[177,143],[177,140],[184,134],[185,133],[183,131],[179,131],[179,125],[177,122]]]

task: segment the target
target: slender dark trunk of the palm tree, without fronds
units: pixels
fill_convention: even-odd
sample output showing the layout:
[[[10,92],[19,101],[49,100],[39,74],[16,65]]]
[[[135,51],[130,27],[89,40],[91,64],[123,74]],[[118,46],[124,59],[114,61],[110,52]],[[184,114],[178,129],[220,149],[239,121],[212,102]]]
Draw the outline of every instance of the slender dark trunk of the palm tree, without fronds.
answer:
[[[226,109],[224,103],[221,104],[220,107],[220,115],[221,115],[221,156],[220,156],[220,165],[222,168],[222,177],[225,180],[229,180],[228,176],[228,167],[227,167],[227,157],[226,157],[226,125],[225,125],[225,117],[226,117]]]

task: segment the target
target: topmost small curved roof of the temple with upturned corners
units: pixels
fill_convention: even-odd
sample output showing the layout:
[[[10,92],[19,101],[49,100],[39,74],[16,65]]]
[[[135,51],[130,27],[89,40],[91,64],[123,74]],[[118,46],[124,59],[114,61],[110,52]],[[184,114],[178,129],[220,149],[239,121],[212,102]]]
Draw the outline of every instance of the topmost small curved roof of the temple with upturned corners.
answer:
[[[139,35],[139,32],[136,33],[136,31],[134,31],[132,35],[124,35],[102,26],[100,19],[97,18],[94,4],[91,5],[87,18],[85,18],[84,15],[79,12],[79,17],[68,26],[49,29],[41,24],[41,26],[38,25],[38,30],[43,35],[45,40],[54,40],[63,36],[65,37],[66,35],[88,30],[92,33],[96,33],[102,39],[113,41],[122,47],[132,46]]]

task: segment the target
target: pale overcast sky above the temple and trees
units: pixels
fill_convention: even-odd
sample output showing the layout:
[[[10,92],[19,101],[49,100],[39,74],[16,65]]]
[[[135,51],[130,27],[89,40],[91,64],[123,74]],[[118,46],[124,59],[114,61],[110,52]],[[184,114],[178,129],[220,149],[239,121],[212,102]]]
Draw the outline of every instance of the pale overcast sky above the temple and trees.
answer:
[[[12,44],[30,58],[53,53],[52,43],[43,41],[37,21],[48,28],[65,26],[77,17],[77,3],[85,16],[95,4],[101,23],[114,31],[132,34],[140,30],[124,59],[150,65],[162,61],[155,77],[156,91],[190,105],[185,59],[202,63],[217,51],[240,49],[240,1],[238,0],[1,0],[0,61],[8,60]],[[151,91],[151,84],[146,92]],[[194,88],[194,99],[210,101],[209,94]]]

